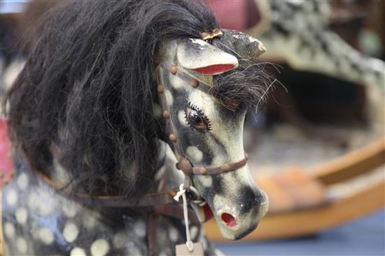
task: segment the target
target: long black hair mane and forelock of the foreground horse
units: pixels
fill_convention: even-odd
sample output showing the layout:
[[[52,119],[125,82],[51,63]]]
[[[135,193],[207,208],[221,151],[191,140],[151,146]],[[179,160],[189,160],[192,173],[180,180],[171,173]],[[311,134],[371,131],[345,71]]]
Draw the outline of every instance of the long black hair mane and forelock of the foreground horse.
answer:
[[[57,144],[75,190],[143,193],[161,136],[153,116],[158,45],[220,28],[211,10],[192,0],[71,1],[39,24],[8,94],[13,142],[35,170],[48,174]],[[219,39],[213,44],[228,51]],[[253,61],[239,64],[216,77],[214,89],[225,100],[256,104],[265,73]]]

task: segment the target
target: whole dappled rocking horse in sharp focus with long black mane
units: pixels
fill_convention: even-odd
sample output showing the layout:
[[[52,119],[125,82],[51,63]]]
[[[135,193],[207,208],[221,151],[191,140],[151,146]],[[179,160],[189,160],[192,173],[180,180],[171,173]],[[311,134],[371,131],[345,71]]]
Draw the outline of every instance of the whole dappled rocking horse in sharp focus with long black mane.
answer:
[[[268,200],[242,127],[274,82],[263,52],[195,1],[52,8],[8,94],[6,254],[214,255],[200,223],[252,232]]]

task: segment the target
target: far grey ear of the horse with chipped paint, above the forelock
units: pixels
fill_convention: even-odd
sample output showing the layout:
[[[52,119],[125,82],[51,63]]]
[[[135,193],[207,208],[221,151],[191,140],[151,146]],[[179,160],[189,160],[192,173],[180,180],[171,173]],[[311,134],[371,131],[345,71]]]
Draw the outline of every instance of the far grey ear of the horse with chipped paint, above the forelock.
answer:
[[[253,38],[253,36],[248,36],[246,33],[223,29],[223,37],[242,59],[256,60],[260,54],[266,52],[265,45],[260,40]]]

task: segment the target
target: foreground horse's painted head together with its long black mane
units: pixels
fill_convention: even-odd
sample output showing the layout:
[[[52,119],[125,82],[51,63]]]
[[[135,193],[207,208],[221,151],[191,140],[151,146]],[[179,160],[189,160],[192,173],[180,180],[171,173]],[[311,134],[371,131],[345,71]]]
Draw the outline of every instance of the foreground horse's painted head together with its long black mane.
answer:
[[[45,21],[8,95],[32,169],[55,177],[60,165],[73,193],[132,198],[154,191],[163,140],[200,221],[214,216],[228,239],[258,225],[268,202],[242,128],[269,79],[262,43],[190,0],[69,2]]]

